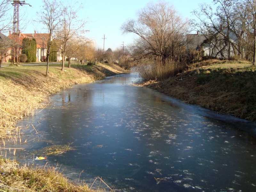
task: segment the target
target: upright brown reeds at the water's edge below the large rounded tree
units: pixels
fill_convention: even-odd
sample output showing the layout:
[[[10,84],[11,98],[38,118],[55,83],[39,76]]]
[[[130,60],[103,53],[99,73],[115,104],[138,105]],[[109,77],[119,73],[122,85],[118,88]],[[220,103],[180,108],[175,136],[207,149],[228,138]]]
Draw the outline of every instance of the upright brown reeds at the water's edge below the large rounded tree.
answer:
[[[138,73],[146,81],[167,79],[182,72],[185,67],[183,63],[172,60],[166,60],[164,64],[160,60],[141,60],[137,64]]]

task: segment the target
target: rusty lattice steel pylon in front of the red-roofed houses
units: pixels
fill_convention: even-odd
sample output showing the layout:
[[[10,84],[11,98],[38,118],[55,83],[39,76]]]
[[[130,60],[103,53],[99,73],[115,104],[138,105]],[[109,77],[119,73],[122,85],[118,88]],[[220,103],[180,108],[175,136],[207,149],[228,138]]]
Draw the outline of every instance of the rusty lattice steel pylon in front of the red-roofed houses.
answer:
[[[29,5],[32,7],[30,4],[25,3],[25,1],[20,1],[20,0],[8,0],[12,2],[12,5],[14,6],[14,11],[13,11],[13,26],[12,26],[12,34],[14,35],[14,42],[16,43],[16,47],[13,49],[13,64],[16,60],[17,65],[20,63],[19,60],[19,55],[20,55],[20,5]]]

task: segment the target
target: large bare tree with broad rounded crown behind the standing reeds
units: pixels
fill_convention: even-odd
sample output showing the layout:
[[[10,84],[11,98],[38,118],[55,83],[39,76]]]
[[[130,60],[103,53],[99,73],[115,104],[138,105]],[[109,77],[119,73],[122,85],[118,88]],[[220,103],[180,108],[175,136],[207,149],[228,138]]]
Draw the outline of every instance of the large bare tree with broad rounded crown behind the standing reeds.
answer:
[[[138,12],[137,20],[126,21],[121,30],[139,36],[136,47],[142,56],[158,56],[164,64],[167,58],[179,60],[188,28],[188,20],[183,20],[173,6],[158,2],[148,4]]]

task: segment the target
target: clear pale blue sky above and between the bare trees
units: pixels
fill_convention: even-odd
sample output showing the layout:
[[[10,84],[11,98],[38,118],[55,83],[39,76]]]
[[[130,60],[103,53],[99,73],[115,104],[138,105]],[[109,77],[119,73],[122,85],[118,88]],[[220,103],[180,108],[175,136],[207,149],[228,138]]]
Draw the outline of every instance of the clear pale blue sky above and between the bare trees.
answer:
[[[65,0],[75,2],[74,0]],[[76,0],[77,1],[77,0]],[[136,19],[136,12],[145,7],[149,2],[158,2],[157,0],[78,0],[83,3],[84,8],[80,10],[79,16],[84,17],[88,22],[84,28],[89,32],[84,35],[95,41],[96,45],[103,48],[103,37],[105,34],[105,50],[111,48],[121,48],[132,43],[134,35],[122,35],[120,27],[127,19]],[[170,2],[183,18],[191,19],[190,12],[198,8],[199,3],[210,1],[206,0],[166,0]],[[22,33],[33,33],[35,30],[38,33],[44,32],[38,23],[33,22],[37,18],[36,12],[40,12],[42,0],[26,0],[26,3],[31,4],[20,7],[20,15],[23,12],[27,20],[26,28],[22,28]],[[13,9],[13,8],[12,8]],[[136,36],[135,36],[136,37]]]

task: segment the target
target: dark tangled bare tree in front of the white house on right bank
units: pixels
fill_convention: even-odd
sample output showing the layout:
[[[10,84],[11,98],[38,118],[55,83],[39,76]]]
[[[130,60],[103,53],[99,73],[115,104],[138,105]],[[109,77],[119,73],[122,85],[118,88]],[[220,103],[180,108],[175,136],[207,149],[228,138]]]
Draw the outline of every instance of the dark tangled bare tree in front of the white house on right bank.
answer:
[[[228,47],[228,59],[231,52],[231,24],[233,23],[233,10],[231,9],[233,0],[213,0],[217,6],[216,12],[213,12],[212,6],[206,3],[199,4],[199,8],[193,11],[197,17],[196,20],[191,20],[194,29],[203,34],[205,44],[208,46],[209,57],[222,58],[226,57],[225,51]],[[225,27],[223,27],[225,26]],[[223,30],[225,28],[225,30]]]

